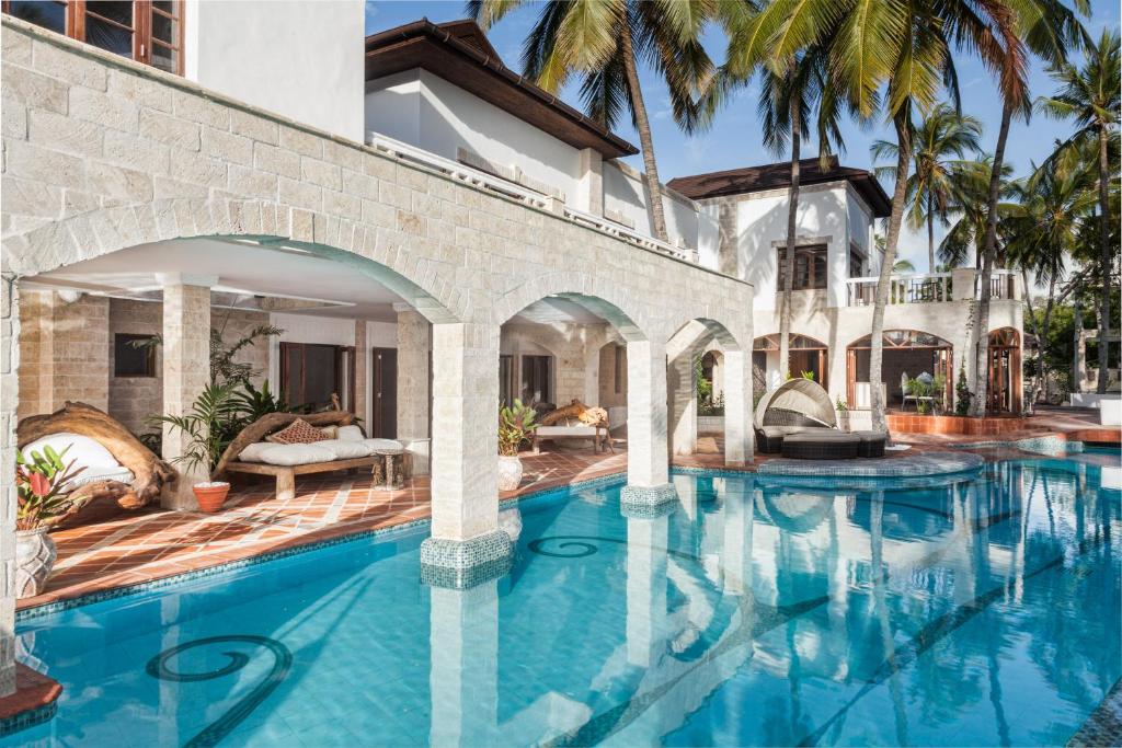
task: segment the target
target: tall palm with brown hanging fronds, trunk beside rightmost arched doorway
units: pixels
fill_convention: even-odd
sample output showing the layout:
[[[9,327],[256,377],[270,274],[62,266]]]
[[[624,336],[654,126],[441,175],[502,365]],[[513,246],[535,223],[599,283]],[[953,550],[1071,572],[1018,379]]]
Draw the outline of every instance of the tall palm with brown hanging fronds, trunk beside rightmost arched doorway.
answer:
[[[1087,0],[1074,0],[1084,13],[1089,12]],[[1067,59],[1067,48],[1078,44],[1085,36],[1083,27],[1063,2],[1058,0],[1003,0],[1005,11],[1012,15],[1012,34],[1002,35],[1005,54],[991,61],[992,70],[999,74],[1002,92],[1001,124],[997,128],[997,144],[993,153],[993,170],[990,174],[990,190],[986,195],[986,228],[982,238],[982,279],[977,314],[977,357],[975,359],[975,397],[971,412],[984,416],[987,406],[990,368],[990,297],[991,278],[996,261],[997,201],[1001,197],[1001,178],[1005,165],[1005,144],[1013,116],[1020,114],[1028,121],[1031,113],[1026,48],[1051,64]],[[995,65],[993,63],[996,63]]]

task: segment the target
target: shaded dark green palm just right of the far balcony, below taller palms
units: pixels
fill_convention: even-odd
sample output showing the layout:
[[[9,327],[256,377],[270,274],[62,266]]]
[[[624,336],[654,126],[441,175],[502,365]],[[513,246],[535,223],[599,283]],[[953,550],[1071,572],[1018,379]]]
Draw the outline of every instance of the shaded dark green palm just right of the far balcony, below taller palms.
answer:
[[[1047,284],[1048,295],[1042,324],[1037,329],[1038,377],[1047,394],[1048,332],[1056,301],[1056,286],[1064,279],[1066,259],[1075,253],[1083,223],[1095,206],[1094,179],[1078,163],[1063,160],[1046,164],[1022,181],[1015,182],[1017,201],[1002,218],[1005,250],[1012,265],[1028,279],[1031,273],[1038,285]],[[1028,284],[1026,284],[1028,286]],[[1030,305],[1030,316],[1036,317]],[[1036,401],[1036,393],[1029,403]]]

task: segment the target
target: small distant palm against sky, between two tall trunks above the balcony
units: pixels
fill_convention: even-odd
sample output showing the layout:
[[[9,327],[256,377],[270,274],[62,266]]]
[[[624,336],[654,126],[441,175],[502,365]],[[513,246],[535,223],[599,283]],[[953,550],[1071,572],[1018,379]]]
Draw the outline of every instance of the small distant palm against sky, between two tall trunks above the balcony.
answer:
[[[951,202],[957,197],[955,167],[967,153],[978,153],[982,122],[964,116],[948,104],[939,104],[912,132],[914,173],[908,177],[908,225],[927,225],[928,273],[935,273],[935,219],[946,225]],[[873,159],[896,160],[896,144],[877,140]],[[876,176],[895,178],[894,166],[876,168]]]

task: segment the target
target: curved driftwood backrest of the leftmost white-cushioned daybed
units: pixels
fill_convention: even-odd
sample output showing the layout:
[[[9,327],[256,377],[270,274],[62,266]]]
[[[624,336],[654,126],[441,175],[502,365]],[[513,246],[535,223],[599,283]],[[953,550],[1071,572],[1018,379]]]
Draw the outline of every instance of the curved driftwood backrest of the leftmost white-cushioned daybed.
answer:
[[[139,509],[159,497],[165,483],[175,480],[177,473],[140,440],[132,435],[120,422],[85,403],[67,401],[61,409],[49,415],[31,416],[19,422],[16,430],[19,449],[50,434],[71,433],[89,436],[128,468],[134,475],[132,483],[103,480],[80,486],[71,495],[71,510],[55,518],[57,524],[73,517],[91,501],[112,499],[122,509]]]

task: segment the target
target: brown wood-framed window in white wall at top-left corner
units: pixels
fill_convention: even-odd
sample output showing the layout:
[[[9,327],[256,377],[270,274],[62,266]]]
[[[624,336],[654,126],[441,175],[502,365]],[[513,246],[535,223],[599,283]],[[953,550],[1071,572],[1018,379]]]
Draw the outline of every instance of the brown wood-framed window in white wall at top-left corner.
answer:
[[[3,0],[3,11],[162,71],[183,72],[181,0]]]

